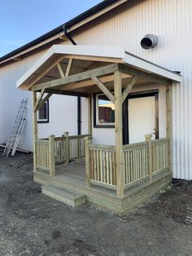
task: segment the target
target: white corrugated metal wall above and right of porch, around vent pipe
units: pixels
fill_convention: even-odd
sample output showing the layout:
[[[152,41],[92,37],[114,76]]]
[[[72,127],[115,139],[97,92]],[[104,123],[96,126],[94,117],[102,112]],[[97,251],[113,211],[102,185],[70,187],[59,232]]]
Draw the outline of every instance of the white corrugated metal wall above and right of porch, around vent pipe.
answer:
[[[73,34],[77,44],[125,46],[146,60],[181,71],[183,83],[172,87],[173,176],[180,179],[192,179],[191,10],[191,0],[130,0]],[[150,51],[140,46],[146,33],[159,37]]]

